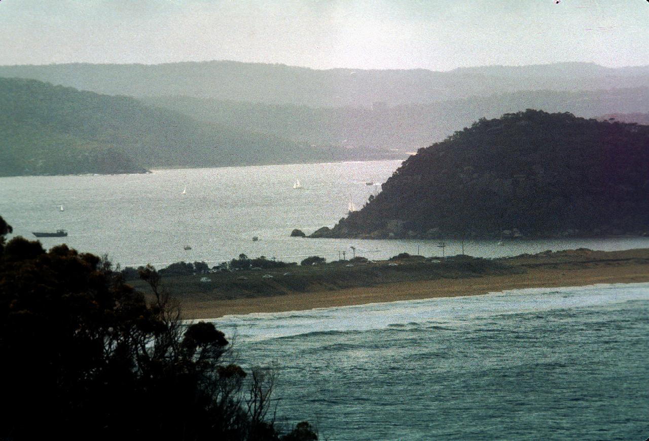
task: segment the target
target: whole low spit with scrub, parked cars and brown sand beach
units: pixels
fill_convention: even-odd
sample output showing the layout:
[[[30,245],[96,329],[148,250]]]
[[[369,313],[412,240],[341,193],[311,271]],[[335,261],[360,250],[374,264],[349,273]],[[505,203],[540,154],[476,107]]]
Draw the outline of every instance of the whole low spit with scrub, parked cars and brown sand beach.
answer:
[[[165,288],[187,318],[215,318],[532,287],[640,283],[649,281],[649,249],[547,251],[496,259],[403,254],[387,261],[357,257],[210,274],[161,272]],[[128,279],[145,291],[143,282]]]

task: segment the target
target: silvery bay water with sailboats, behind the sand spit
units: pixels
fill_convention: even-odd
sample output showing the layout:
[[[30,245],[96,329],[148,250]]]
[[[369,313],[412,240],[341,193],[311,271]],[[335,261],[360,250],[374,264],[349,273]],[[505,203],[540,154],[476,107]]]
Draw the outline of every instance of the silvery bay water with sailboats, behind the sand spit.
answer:
[[[314,255],[331,260],[341,252],[349,258],[350,246],[370,259],[416,254],[418,248],[425,256],[441,256],[438,241],[289,237],[293,228],[308,234],[334,226],[347,213],[350,198],[360,208],[399,164],[364,161],[0,178],[0,216],[14,227],[14,235],[32,239],[32,232],[64,228],[67,237],[42,238],[43,245],[66,242],[84,252],[108,254],[121,265],[161,267],[181,260],[214,265],[240,253],[286,261]],[[293,189],[295,178],[303,189]],[[259,240],[253,242],[254,236]],[[186,245],[192,249],[184,250]],[[447,255],[459,254],[457,241],[447,245]],[[649,237],[511,241],[504,246],[467,241],[465,252],[497,257],[580,246],[648,248]]]

